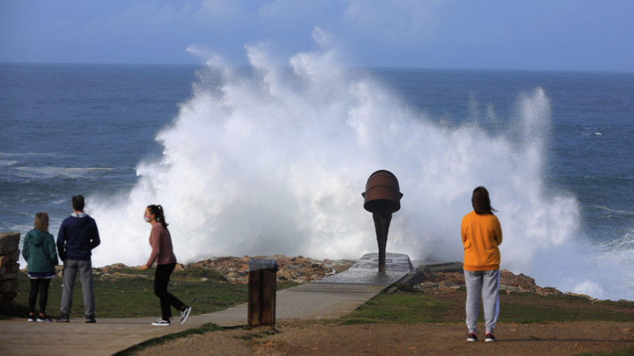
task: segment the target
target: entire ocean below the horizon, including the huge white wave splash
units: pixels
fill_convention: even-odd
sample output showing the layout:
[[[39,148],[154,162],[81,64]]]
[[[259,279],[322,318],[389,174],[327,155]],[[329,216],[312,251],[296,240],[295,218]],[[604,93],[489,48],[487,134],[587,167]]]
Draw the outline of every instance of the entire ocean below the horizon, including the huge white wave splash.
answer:
[[[46,211],[56,236],[81,193],[97,266],[147,260],[149,204],[163,205],[179,262],[358,259],[377,249],[361,192],[390,170],[404,196],[387,252],[461,260],[461,217],[483,185],[502,268],[634,300],[634,73],[252,58],[0,64],[0,232],[24,235]]]

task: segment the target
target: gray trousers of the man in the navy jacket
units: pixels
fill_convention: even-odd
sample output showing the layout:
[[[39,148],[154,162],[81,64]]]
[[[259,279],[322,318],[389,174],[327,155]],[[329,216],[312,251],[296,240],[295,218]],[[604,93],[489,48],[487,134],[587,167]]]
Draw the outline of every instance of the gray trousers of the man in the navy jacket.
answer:
[[[80,274],[82,284],[82,294],[84,295],[84,311],[87,317],[94,317],[94,290],[92,286],[92,261],[64,261],[64,288],[62,291],[62,301],[60,311],[62,314],[70,314],[73,307],[73,288],[77,272]]]

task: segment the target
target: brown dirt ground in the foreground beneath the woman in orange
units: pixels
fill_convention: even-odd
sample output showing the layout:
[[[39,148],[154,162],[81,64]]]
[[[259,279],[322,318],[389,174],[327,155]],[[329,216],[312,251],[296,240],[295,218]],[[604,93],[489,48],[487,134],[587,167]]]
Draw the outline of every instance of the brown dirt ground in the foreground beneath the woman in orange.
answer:
[[[634,348],[634,322],[498,324],[495,336],[468,343],[466,327],[455,323],[289,322],[192,335],[137,355],[577,355]]]

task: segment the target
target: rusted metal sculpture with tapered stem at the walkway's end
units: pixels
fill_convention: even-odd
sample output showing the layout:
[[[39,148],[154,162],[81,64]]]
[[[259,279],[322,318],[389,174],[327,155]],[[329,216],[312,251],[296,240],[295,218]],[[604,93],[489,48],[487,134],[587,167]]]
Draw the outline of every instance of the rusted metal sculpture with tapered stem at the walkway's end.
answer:
[[[378,269],[385,271],[385,247],[387,231],[390,229],[392,213],[401,208],[403,194],[399,191],[398,179],[387,170],[378,170],[371,174],[366,183],[366,191],[361,193],[363,208],[372,213],[378,243]]]

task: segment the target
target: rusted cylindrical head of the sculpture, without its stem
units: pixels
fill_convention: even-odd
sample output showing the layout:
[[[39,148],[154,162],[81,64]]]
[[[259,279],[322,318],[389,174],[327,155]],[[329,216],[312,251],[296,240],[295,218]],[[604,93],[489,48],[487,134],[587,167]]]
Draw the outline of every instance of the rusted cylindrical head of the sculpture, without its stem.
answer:
[[[402,196],[399,181],[394,174],[387,170],[378,170],[366,183],[363,208],[378,214],[392,214],[401,208]]]

